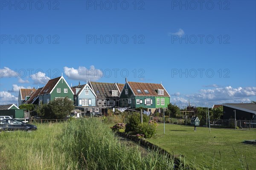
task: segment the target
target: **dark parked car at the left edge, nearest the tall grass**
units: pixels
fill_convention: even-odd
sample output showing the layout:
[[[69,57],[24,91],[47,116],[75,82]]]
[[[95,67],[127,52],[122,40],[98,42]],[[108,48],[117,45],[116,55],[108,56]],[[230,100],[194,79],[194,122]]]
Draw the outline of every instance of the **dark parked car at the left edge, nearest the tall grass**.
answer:
[[[0,132],[1,131],[15,131],[15,130],[25,130],[32,132],[32,130],[37,130],[35,125],[30,125],[22,122],[18,119],[2,119],[0,120]]]

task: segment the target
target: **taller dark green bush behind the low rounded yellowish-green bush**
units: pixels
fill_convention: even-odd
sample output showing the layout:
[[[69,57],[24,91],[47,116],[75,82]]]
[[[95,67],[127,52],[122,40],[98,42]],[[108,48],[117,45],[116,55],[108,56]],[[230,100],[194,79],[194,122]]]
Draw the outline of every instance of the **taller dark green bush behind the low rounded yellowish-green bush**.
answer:
[[[140,113],[133,112],[129,117],[128,117],[129,123],[126,124],[125,126],[125,132],[136,132],[137,127],[140,124]],[[143,122],[148,123],[149,117],[145,114],[143,114]]]

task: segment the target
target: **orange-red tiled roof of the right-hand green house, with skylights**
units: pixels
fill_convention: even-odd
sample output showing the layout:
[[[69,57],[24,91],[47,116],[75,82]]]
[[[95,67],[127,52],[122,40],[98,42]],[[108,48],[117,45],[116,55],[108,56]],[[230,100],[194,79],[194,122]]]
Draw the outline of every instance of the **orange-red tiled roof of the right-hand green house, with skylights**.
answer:
[[[170,97],[166,89],[162,84],[156,83],[144,83],[144,82],[128,82],[128,85],[131,87],[131,90],[135,94],[135,96],[166,96]],[[158,89],[164,90],[163,95],[158,94]],[[138,92],[141,91],[141,93]],[[148,91],[146,93],[144,90]]]

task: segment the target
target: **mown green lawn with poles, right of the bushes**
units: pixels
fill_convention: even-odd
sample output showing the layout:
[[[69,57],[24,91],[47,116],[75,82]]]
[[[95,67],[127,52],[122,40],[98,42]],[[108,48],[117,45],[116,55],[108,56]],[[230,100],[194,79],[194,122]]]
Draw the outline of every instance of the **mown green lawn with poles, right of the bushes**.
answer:
[[[217,169],[227,170],[247,164],[248,169],[255,170],[256,146],[241,143],[252,139],[256,139],[256,130],[212,128],[209,133],[206,127],[197,127],[195,132],[192,126],[172,124],[166,124],[164,135],[163,124],[159,124],[157,136],[147,140],[196,164],[219,164]]]

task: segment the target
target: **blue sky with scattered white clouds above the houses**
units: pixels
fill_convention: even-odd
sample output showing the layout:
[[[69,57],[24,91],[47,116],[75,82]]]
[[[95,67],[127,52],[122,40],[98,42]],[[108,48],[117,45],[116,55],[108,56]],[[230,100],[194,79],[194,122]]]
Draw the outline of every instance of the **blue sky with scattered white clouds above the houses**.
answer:
[[[0,0],[0,103],[61,74],[162,82],[181,108],[255,101],[255,30],[253,0]]]

